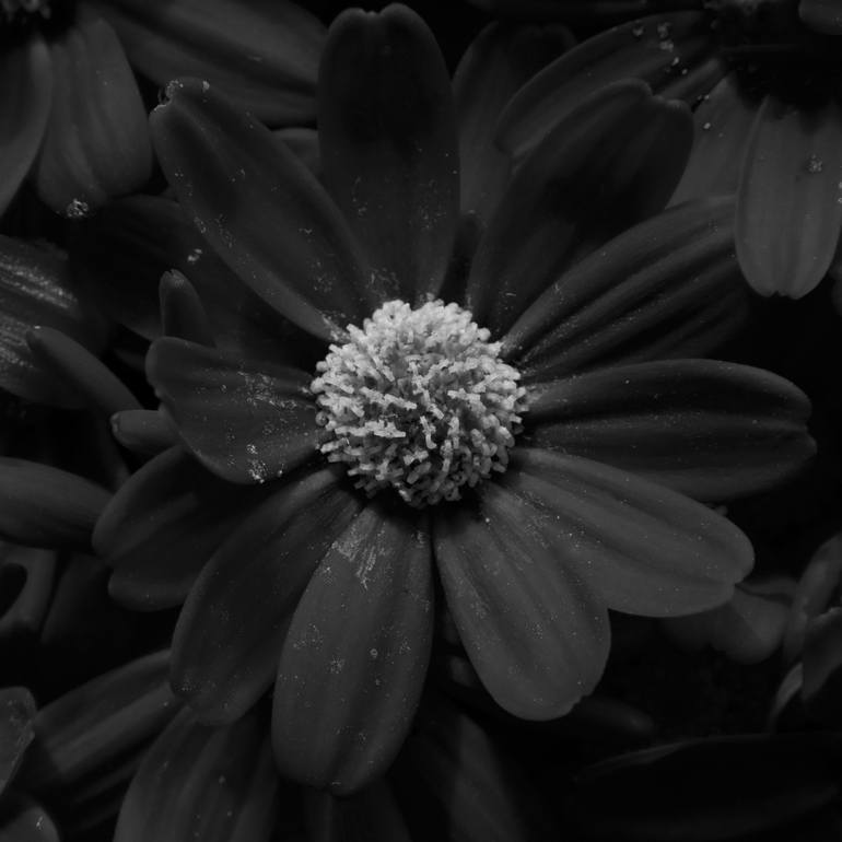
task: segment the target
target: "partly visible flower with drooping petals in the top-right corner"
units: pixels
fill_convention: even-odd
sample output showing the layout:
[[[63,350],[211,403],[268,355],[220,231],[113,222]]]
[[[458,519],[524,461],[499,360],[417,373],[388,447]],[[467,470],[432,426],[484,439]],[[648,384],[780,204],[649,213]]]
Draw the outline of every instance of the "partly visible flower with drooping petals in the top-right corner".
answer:
[[[749,283],[800,297],[828,271],[842,229],[842,11],[809,0],[698,7],[578,45],[511,103],[500,142],[524,154],[582,96],[620,79],[682,97],[695,108],[697,139],[673,202],[736,192]]]

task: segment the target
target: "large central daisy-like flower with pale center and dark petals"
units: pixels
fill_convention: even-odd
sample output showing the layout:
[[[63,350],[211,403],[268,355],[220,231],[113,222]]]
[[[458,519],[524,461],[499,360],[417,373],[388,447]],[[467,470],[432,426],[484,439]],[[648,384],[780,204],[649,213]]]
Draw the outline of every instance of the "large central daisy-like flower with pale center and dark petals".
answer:
[[[126,483],[95,543],[115,594],[155,607],[189,590],[173,681],[204,721],[236,720],[274,680],[281,770],[348,793],[411,722],[434,576],[488,690],[537,720],[596,683],[608,607],[728,597],[751,548],[675,489],[717,499],[790,473],[811,451],[808,406],[764,372],[646,362],[706,348],[732,315],[728,202],[606,244],[671,194],[686,109],[639,83],[584,103],[522,164],[461,278],[467,254],[446,277],[451,84],[406,8],[348,12],[328,35],[324,186],[212,85],[168,97],[164,172],[279,334],[252,323],[220,350],[190,284],[165,282],[167,332],[186,338],[155,341],[147,373],[182,446]],[[281,315],[306,341],[284,340]]]

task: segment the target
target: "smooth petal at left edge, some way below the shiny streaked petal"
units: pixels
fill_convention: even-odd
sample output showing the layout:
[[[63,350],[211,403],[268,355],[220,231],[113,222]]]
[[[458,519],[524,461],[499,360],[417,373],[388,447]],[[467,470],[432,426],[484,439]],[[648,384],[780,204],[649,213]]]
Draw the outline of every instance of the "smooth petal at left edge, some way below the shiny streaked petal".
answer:
[[[83,477],[25,459],[0,458],[0,536],[30,547],[91,547],[110,494]]]

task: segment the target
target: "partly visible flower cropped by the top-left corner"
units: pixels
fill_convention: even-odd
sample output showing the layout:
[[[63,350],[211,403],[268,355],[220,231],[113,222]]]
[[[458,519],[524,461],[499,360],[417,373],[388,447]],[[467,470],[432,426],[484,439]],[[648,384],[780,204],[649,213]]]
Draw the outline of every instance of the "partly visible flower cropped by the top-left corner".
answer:
[[[289,2],[2,0],[0,213],[31,171],[71,218],[148,180],[130,63],[159,84],[201,73],[270,122],[312,119],[323,32]]]

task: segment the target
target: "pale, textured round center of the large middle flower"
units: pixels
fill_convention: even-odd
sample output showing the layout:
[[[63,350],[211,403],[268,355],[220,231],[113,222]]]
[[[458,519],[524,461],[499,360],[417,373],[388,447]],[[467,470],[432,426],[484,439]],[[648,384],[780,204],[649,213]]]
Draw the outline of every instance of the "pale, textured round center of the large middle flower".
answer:
[[[420,508],[505,470],[526,390],[467,309],[389,301],[348,332],[311,389],[330,433],[320,449],[358,488],[391,487]]]

